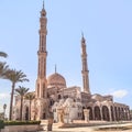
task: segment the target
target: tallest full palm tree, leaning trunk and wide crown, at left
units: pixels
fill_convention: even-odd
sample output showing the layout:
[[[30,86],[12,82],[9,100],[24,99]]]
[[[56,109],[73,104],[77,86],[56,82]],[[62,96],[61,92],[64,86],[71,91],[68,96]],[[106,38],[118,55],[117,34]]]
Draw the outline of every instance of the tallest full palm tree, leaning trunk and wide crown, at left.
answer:
[[[14,96],[15,84],[29,81],[29,79],[26,78],[26,75],[22,73],[22,70],[15,70],[15,69],[9,69],[6,74],[4,79],[9,79],[12,82],[10,113],[9,113],[9,120],[12,120],[12,107],[13,107],[13,96]]]

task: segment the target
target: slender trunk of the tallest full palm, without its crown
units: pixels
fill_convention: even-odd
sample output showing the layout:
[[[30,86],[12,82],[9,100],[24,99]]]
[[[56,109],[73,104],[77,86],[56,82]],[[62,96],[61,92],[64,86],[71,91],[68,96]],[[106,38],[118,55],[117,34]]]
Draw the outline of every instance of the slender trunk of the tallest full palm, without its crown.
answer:
[[[12,120],[12,107],[13,107],[14,87],[15,87],[15,84],[12,82],[12,91],[11,91],[11,99],[10,99],[10,114],[9,114],[9,120]]]

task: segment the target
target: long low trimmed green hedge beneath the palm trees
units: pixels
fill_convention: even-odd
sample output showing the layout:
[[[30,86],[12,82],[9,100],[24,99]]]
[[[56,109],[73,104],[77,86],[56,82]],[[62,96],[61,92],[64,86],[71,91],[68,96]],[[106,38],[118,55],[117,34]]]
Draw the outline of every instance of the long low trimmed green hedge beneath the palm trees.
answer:
[[[41,121],[4,121],[4,125],[30,125],[30,124],[40,124]]]

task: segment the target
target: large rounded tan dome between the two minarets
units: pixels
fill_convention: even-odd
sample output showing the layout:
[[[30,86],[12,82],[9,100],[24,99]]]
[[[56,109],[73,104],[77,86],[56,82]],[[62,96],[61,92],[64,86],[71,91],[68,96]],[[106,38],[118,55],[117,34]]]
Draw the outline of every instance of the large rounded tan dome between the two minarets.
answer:
[[[57,87],[57,88],[66,88],[66,80],[65,78],[55,73],[55,74],[52,74],[51,76],[48,76],[47,78],[47,88],[53,88],[53,87]]]

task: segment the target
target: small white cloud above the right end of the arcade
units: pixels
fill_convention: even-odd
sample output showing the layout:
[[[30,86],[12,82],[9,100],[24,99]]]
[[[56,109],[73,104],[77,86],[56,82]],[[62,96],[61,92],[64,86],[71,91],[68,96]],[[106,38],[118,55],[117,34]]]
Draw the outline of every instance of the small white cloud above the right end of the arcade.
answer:
[[[111,95],[116,98],[123,98],[128,95],[128,91],[124,89],[121,89],[121,90],[117,90],[117,91],[112,92]]]

